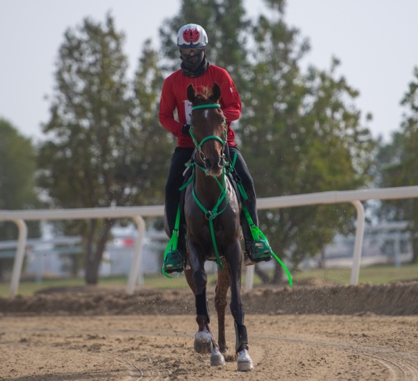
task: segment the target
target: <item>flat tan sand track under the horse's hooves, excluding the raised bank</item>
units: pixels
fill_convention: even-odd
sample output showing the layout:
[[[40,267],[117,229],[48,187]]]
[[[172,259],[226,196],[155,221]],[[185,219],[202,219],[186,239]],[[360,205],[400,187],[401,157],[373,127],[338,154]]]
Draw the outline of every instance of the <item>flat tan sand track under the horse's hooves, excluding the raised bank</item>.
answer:
[[[215,320],[216,322],[216,320]],[[215,323],[214,322],[214,323]],[[0,377],[41,380],[417,380],[418,317],[248,315],[254,371],[211,368],[194,316],[3,317]],[[227,325],[233,347],[234,331]],[[232,356],[231,356],[232,357]]]

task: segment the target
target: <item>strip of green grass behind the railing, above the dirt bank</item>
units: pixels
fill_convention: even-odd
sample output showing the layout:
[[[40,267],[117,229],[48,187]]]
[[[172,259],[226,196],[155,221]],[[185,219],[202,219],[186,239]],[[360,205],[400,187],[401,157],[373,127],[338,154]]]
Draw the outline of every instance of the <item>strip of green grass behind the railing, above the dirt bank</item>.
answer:
[[[326,282],[349,284],[351,269],[312,269],[308,271],[292,272],[293,283],[318,279]],[[215,283],[215,274],[208,274],[208,284]],[[418,264],[403,264],[401,267],[393,265],[379,265],[362,267],[359,273],[359,283],[385,284],[394,281],[418,281]],[[242,272],[242,284],[245,284],[245,271]],[[73,287],[85,285],[83,278],[54,278],[43,279],[37,283],[34,281],[20,282],[17,294],[32,295],[35,292],[49,287]],[[166,278],[162,274],[144,277],[146,287],[158,289],[187,288],[185,276],[181,274],[176,278]],[[254,276],[254,286],[261,285],[258,276]],[[99,287],[115,287],[125,290],[126,277],[100,278]],[[10,291],[10,283],[0,283],[0,296],[7,297]]]

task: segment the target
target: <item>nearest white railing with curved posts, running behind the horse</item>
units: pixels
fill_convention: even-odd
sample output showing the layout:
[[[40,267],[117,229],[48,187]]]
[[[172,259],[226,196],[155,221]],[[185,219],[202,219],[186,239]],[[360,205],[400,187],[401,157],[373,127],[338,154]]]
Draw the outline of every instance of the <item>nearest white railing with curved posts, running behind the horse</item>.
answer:
[[[358,191],[331,191],[321,193],[308,193],[282,197],[265,197],[257,200],[258,209],[276,209],[287,207],[301,207],[314,204],[336,204],[350,202],[357,210],[357,227],[355,246],[353,252],[353,266],[351,269],[350,284],[355,285],[359,279],[360,260],[362,257],[362,244],[364,237],[364,207],[361,201],[367,200],[394,200],[401,198],[418,197],[418,186],[405,186],[398,188],[362,189]],[[77,220],[91,218],[132,218],[137,224],[138,238],[134,248],[134,257],[127,281],[126,292],[133,294],[139,276],[142,246],[146,231],[143,217],[163,216],[164,206],[155,205],[147,207],[115,207],[90,209],[38,209],[7,211],[0,210],[0,221],[12,221],[19,229],[15,262],[13,264],[10,281],[10,297],[14,297],[20,283],[24,250],[26,248],[27,227],[25,221],[50,220]],[[250,290],[254,282],[254,266],[246,269],[245,287]]]

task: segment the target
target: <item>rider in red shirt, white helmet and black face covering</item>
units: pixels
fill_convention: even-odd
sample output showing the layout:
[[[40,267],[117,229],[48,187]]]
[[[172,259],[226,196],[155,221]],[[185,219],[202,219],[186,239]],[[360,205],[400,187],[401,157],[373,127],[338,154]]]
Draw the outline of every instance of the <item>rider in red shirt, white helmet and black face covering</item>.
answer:
[[[256,193],[254,183],[240,150],[235,144],[235,133],[231,128],[231,121],[235,121],[241,114],[241,100],[235,84],[229,73],[223,68],[206,61],[205,47],[208,44],[206,31],[197,24],[187,24],[181,27],[177,34],[177,45],[180,47],[180,69],[164,80],[160,100],[160,123],[177,137],[178,147],[171,158],[169,177],[165,187],[165,211],[169,232],[173,234],[176,224],[180,191],[183,184],[185,163],[192,157],[194,142],[189,134],[190,113],[192,105],[187,100],[187,86],[193,84],[197,92],[213,87],[217,82],[221,87],[219,103],[228,125],[227,141],[229,156],[237,155],[235,175],[238,175],[248,200],[245,202],[254,225],[258,226],[256,209]],[[174,112],[177,111],[177,119]],[[270,246],[263,239],[255,240],[245,218],[242,218],[242,230],[245,239],[245,250],[249,259],[246,264],[254,264],[270,260],[272,252]],[[178,247],[167,253],[163,269],[167,273],[183,271],[186,257],[186,241],[183,224],[178,232]]]

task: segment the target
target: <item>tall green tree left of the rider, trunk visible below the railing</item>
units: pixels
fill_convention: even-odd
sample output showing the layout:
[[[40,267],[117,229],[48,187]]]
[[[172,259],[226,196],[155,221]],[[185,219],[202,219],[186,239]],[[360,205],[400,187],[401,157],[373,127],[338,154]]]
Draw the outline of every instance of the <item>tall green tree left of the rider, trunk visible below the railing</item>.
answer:
[[[117,207],[145,200],[149,179],[140,149],[141,110],[127,80],[123,43],[111,15],[104,24],[86,18],[65,32],[51,117],[43,128],[48,139],[39,154],[39,184],[53,207]],[[84,237],[86,283],[98,282],[114,222],[65,224],[67,234]]]

